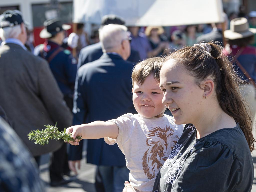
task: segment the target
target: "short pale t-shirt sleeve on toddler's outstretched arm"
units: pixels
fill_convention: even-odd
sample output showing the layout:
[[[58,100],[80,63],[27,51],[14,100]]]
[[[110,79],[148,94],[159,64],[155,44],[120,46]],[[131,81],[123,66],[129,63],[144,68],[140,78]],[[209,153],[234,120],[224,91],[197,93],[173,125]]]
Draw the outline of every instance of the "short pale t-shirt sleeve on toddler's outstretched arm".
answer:
[[[118,126],[118,136],[116,139],[105,137],[104,140],[109,145],[114,145],[116,143],[125,143],[131,136],[134,128],[134,115],[132,113],[127,113],[122,115],[117,119],[110,120]]]

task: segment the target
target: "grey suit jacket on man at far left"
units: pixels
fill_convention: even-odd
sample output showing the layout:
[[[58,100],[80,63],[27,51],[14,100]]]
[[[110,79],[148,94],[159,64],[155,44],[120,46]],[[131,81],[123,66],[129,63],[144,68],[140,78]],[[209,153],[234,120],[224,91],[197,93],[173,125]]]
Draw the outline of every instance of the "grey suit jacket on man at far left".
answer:
[[[72,124],[72,114],[47,61],[16,44],[0,47],[0,106],[33,156],[56,151],[63,142],[34,144],[27,136],[31,130],[55,122],[63,130]]]

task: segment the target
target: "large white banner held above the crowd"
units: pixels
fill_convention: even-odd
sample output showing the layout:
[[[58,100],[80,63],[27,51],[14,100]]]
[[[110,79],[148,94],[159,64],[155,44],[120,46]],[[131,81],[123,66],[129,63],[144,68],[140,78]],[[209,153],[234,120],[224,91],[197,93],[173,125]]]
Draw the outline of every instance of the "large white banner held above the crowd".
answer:
[[[222,0],[74,0],[73,22],[100,24],[104,15],[122,17],[127,26],[222,23]]]

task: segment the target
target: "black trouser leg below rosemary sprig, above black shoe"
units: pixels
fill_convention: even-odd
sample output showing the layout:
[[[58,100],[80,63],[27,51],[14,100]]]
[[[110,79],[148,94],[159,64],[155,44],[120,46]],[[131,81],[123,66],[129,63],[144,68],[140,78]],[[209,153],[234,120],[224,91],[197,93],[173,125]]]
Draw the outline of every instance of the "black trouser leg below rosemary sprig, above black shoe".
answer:
[[[49,168],[51,182],[58,182],[63,179],[64,170],[68,168],[67,156],[66,143],[58,151],[51,154]]]

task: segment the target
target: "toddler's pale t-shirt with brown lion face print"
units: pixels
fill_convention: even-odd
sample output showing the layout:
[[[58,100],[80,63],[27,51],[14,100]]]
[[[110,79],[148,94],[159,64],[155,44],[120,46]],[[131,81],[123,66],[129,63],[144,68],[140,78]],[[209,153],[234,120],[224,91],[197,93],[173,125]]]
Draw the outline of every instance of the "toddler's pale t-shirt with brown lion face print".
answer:
[[[183,133],[183,125],[176,125],[169,115],[145,118],[128,113],[110,121],[118,126],[119,134],[116,140],[105,137],[105,142],[117,143],[125,155],[135,191],[152,191],[157,173]]]

